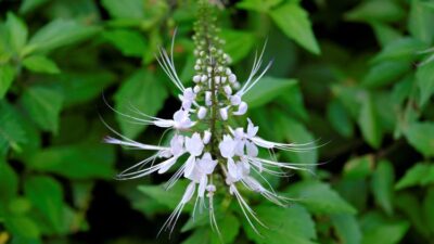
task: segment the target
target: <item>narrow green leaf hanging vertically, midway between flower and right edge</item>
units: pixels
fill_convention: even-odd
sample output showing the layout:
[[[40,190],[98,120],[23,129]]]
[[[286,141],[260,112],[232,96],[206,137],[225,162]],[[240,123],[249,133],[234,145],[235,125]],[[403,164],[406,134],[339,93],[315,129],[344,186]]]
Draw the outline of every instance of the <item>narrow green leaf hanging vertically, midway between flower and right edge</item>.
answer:
[[[362,101],[358,124],[366,142],[374,149],[380,147],[383,139],[383,130],[370,94]]]

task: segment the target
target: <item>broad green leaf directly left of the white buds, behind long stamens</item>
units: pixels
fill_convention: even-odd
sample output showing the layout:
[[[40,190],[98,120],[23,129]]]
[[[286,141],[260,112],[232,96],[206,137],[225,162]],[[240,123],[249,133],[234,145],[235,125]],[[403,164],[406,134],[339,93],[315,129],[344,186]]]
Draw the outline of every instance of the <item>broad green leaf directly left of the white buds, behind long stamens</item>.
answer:
[[[115,94],[115,107],[120,113],[138,117],[137,113],[131,112],[131,105],[143,114],[155,116],[163,107],[168,93],[162,84],[151,72],[139,69],[120,86]],[[146,126],[135,125],[131,119],[116,116],[124,136],[128,138],[137,137]],[[128,120],[129,119],[129,120]]]

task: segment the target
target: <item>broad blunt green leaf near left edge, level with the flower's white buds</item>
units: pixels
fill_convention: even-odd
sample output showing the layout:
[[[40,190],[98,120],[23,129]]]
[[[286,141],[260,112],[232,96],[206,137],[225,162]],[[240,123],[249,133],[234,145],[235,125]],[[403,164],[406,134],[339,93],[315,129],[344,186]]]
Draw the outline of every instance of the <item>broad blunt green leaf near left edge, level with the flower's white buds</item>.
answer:
[[[42,130],[58,132],[63,104],[62,93],[46,87],[29,87],[24,91],[21,102]]]

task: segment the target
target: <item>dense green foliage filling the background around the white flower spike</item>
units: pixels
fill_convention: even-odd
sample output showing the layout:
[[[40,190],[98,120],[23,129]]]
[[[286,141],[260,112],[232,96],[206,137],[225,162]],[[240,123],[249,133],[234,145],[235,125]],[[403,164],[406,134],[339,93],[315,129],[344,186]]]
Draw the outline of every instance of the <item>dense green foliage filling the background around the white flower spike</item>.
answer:
[[[190,82],[194,12],[193,1],[0,1],[0,244],[219,243],[206,216],[155,239],[182,183],[113,180],[143,154],[101,143],[111,132],[99,115],[159,140],[102,93],[116,110],[169,116],[179,103],[154,54],[178,27],[176,64]],[[268,38],[275,64],[248,97],[260,136],[316,141],[279,156],[324,163],[272,182],[301,198],[289,208],[250,196],[264,236],[225,200],[224,242],[432,243],[434,1],[242,0],[219,17],[239,77]]]

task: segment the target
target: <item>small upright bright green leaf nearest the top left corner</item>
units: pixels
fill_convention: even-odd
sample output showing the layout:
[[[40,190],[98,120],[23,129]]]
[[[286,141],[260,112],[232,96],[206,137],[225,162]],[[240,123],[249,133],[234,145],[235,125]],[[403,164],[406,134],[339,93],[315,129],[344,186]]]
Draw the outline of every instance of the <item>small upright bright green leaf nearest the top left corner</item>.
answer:
[[[9,40],[15,52],[20,52],[27,42],[27,26],[15,14],[9,12],[7,18]]]

